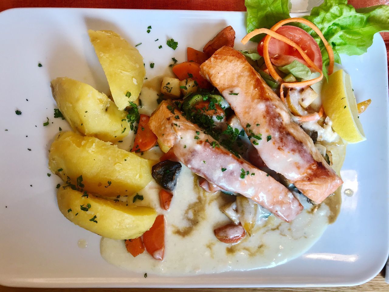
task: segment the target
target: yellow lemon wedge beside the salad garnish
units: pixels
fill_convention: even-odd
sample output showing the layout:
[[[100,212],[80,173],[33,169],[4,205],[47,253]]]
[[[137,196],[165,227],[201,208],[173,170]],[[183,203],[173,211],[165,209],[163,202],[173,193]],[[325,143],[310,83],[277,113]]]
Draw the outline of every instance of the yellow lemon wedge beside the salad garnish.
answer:
[[[338,70],[328,76],[321,94],[324,111],[332,120],[335,132],[349,143],[366,140],[349,74]]]

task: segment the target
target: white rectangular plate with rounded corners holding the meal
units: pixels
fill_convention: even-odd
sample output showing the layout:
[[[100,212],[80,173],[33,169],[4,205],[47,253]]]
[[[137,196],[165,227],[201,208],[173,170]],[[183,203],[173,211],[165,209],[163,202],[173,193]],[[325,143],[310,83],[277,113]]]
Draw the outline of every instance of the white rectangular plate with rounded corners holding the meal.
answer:
[[[147,33],[149,25],[152,29]],[[12,9],[0,13],[2,285],[336,286],[363,283],[380,271],[388,255],[389,174],[386,51],[378,34],[363,56],[342,56],[357,101],[372,100],[361,115],[367,141],[347,147],[342,169],[343,190],[351,188],[354,195],[347,197],[342,190],[338,220],[297,259],[272,269],[191,277],[149,274],[144,278],[147,271],[129,273],[107,264],[100,256],[100,237],[61,215],[55,196],[60,179],[47,176],[47,150],[58,127],[68,126],[66,121],[53,118],[50,81],[67,76],[108,91],[87,30],[114,30],[133,45],[142,42],[137,48],[144,56],[146,76],[151,79],[171,70],[168,64],[172,57],[185,61],[187,46],[201,49],[227,25],[237,32],[236,48],[242,49],[239,40],[245,35],[244,12]],[[175,51],[166,46],[170,38],[179,43]],[[150,62],[155,63],[154,69],[150,69]],[[16,109],[22,112],[20,116],[15,114]],[[46,117],[50,124],[43,127]],[[88,247],[79,248],[79,239],[86,239]]]

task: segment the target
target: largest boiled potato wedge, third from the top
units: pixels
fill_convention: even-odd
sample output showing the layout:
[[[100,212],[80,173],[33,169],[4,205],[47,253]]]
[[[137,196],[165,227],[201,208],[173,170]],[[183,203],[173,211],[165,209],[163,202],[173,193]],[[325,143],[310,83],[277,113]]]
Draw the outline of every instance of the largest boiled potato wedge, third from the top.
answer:
[[[49,154],[50,170],[63,181],[109,197],[144,188],[152,179],[151,166],[151,161],[116,145],[74,132],[59,134]]]

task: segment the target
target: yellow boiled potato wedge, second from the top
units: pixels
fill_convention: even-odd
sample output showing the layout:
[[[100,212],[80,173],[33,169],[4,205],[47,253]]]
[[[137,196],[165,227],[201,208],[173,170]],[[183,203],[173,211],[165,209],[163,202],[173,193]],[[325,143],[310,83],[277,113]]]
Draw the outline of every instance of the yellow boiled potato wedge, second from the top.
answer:
[[[103,141],[117,142],[130,131],[126,114],[107,95],[67,77],[51,81],[53,97],[73,130]]]

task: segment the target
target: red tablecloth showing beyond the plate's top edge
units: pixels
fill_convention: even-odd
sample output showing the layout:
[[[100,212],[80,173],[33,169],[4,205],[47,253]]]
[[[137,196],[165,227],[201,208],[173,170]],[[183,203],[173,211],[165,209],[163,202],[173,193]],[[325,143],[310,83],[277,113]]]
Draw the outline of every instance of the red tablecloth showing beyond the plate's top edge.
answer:
[[[389,4],[388,0],[349,0],[354,7]],[[0,11],[15,7],[93,7],[246,11],[244,0],[0,0]],[[389,33],[381,33],[389,60]],[[389,61],[388,61],[389,68]]]

